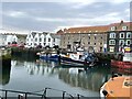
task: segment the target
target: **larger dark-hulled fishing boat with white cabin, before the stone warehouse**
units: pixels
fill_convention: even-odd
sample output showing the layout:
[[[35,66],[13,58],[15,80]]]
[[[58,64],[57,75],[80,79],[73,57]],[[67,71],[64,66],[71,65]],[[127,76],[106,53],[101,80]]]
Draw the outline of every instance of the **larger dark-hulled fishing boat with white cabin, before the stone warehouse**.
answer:
[[[63,65],[92,67],[97,62],[98,58],[95,54],[87,52],[67,53],[67,55],[61,56],[61,64]]]

